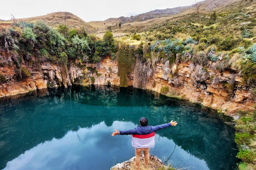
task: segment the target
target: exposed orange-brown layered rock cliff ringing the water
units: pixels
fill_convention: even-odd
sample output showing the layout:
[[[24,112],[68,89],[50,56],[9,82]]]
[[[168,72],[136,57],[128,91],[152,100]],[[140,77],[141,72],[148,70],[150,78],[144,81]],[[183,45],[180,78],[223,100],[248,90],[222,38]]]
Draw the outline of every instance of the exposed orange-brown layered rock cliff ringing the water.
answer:
[[[205,106],[220,110],[224,113],[234,116],[236,110],[253,110],[254,94],[248,85],[243,85],[242,78],[234,76],[230,72],[207,71],[207,79],[198,81],[198,70],[189,67],[190,63],[179,63],[177,67],[177,76],[170,78],[164,71],[164,64],[157,63],[150,78],[145,79],[144,87],[139,87],[134,81],[134,74],[128,75],[128,85],[134,87],[150,89],[160,92],[163,86],[169,88],[167,95],[181,97],[191,102],[202,103]],[[111,85],[120,85],[120,77],[118,75],[117,61],[105,58],[100,65],[85,64],[87,67],[95,67],[98,75],[91,74],[88,69],[70,64],[68,67],[61,67],[51,63],[43,63],[39,68],[30,67],[25,64],[31,77],[24,80],[17,80],[17,75],[13,67],[0,67],[0,73],[5,75],[8,82],[0,85],[0,97],[20,94],[32,90],[48,87],[69,86],[72,84],[90,84],[90,76],[94,77],[94,84],[107,85],[109,81]],[[78,80],[81,77],[87,77],[85,83]],[[217,83],[212,83],[213,77],[218,77]],[[177,80],[178,79],[178,80]],[[233,79],[232,90],[227,89],[225,84]]]

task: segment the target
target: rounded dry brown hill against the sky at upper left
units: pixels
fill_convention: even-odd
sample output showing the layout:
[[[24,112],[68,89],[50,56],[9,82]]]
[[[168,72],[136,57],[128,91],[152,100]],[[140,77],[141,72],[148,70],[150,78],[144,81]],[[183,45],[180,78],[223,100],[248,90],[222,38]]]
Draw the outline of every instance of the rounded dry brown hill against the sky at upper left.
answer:
[[[59,24],[65,24],[66,22],[66,25],[69,28],[84,27],[85,29],[87,29],[88,33],[96,32],[95,28],[93,28],[91,25],[83,21],[81,18],[77,17],[76,15],[70,12],[54,12],[51,14],[38,16],[38,17],[16,19],[17,22],[28,22],[28,23],[29,22],[35,23],[36,21],[39,21],[39,20],[46,22],[49,26],[53,28],[57,28]],[[14,22],[13,19],[7,20],[7,21],[0,20],[0,26],[4,24],[5,25],[11,24],[13,22]]]

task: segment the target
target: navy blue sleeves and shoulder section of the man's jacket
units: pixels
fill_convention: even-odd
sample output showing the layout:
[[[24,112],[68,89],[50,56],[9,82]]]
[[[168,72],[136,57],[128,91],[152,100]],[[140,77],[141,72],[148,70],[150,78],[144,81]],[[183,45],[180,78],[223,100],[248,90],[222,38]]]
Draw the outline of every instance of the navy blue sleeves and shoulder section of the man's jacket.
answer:
[[[157,126],[138,126],[137,128],[130,129],[130,130],[120,130],[119,134],[149,134],[152,132],[156,132],[160,129],[167,128],[169,126],[172,126],[171,123],[157,125]]]

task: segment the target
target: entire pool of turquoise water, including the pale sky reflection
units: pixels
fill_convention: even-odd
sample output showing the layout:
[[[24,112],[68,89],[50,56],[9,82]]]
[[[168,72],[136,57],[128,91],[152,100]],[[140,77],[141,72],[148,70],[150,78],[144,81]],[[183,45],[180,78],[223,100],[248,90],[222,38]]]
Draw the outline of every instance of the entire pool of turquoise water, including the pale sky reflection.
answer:
[[[229,118],[200,105],[135,88],[70,87],[0,100],[0,169],[109,170],[134,156],[131,135],[111,136],[147,117],[150,154],[173,167],[232,170],[238,162]],[[194,167],[194,168],[193,168]]]

